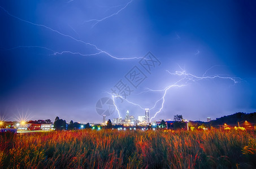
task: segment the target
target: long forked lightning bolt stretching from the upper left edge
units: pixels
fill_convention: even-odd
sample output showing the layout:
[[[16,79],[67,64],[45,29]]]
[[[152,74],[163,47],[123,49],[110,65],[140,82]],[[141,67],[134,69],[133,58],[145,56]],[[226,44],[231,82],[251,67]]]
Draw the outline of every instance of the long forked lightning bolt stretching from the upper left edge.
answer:
[[[131,3],[131,2],[129,2]],[[89,46],[92,46],[93,48],[95,48],[98,52],[96,52],[95,54],[87,54],[87,55],[84,55],[84,54],[80,54],[79,52],[70,52],[70,51],[63,51],[63,52],[54,52],[54,54],[64,54],[64,53],[70,53],[70,54],[79,54],[81,56],[94,56],[94,55],[99,55],[99,54],[106,54],[107,56],[110,56],[112,57],[113,59],[119,59],[119,60],[128,60],[128,59],[142,59],[142,57],[115,57],[111,54],[109,54],[108,52],[106,51],[103,51],[101,50],[100,48],[98,48],[96,45],[92,44],[92,43],[89,43],[89,42],[84,42],[80,39],[76,39],[74,37],[72,37],[71,35],[67,35],[67,34],[64,34],[64,33],[61,33],[59,32],[58,30],[55,30],[55,29],[52,29],[50,28],[49,26],[45,26],[45,25],[42,25],[42,24],[36,24],[36,23],[32,23],[31,21],[27,21],[27,20],[24,20],[24,19],[21,19],[20,17],[17,17],[17,16],[14,16],[12,14],[10,14],[10,12],[8,12],[5,8],[3,8],[2,6],[0,6],[0,8],[6,12],[7,15],[11,16],[11,17],[14,17],[15,19],[18,19],[20,21],[23,21],[25,23],[28,23],[28,24],[32,24],[32,25],[35,25],[35,26],[40,26],[40,27],[43,27],[43,28],[46,28],[48,30],[51,30],[52,32],[55,32],[59,35],[62,35],[64,37],[67,37],[67,38],[70,38],[72,39],[73,41],[76,41],[76,42],[79,42],[79,43],[83,43],[84,45],[89,45]],[[20,47],[20,46],[19,46]],[[27,46],[28,47],[28,46]],[[33,47],[33,46],[31,46]],[[38,47],[38,46],[36,46]],[[18,47],[14,47],[14,48],[18,48]],[[46,47],[42,47],[42,48],[45,48],[45,49],[48,49],[50,50],[49,48],[46,48]],[[53,50],[51,50],[53,51]]]

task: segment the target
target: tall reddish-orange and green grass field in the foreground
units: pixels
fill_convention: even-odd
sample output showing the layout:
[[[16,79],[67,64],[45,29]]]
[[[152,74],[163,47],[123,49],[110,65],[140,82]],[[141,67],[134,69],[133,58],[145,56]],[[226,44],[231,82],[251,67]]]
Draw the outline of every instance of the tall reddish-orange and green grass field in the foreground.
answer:
[[[254,131],[54,131],[0,136],[0,168],[255,168]]]

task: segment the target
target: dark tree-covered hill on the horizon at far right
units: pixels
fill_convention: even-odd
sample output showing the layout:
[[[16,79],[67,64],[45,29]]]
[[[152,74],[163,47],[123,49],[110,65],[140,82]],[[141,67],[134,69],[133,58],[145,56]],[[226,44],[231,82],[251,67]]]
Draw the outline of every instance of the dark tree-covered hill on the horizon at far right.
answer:
[[[223,125],[224,123],[227,124],[237,124],[237,122],[244,122],[248,121],[249,123],[256,124],[256,112],[254,113],[235,113],[231,115],[225,115],[220,118],[216,118],[210,122],[202,122],[202,121],[189,121],[192,125],[194,124],[206,124],[207,126],[216,126],[216,125]]]

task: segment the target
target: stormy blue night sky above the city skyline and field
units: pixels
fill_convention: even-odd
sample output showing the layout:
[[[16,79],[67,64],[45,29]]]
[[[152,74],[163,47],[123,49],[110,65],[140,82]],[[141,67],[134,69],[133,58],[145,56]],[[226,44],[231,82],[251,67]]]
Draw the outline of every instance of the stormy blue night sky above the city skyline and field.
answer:
[[[150,110],[159,112],[152,120],[182,114],[206,121],[256,110],[254,1],[2,1],[0,6],[0,109],[8,120],[20,112],[32,119],[58,115],[68,122],[101,122],[96,103],[111,97],[107,92],[120,79],[133,90],[127,99],[142,108],[164,96],[163,108],[159,100]],[[114,58],[149,51],[161,63],[151,74],[141,59]],[[182,71],[179,65],[199,78],[186,76],[177,83],[186,86],[171,87],[166,95],[148,91],[183,78],[166,71]],[[137,88],[125,79],[134,66],[147,77]],[[200,79],[203,75],[221,78]],[[122,117],[127,109],[136,118],[144,115],[127,101],[115,103]],[[114,117],[117,111],[107,118]]]

